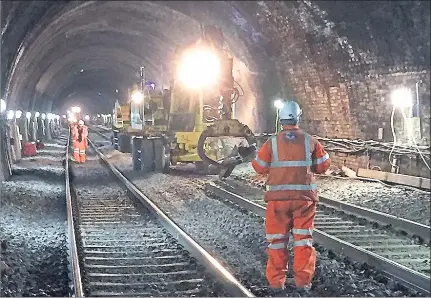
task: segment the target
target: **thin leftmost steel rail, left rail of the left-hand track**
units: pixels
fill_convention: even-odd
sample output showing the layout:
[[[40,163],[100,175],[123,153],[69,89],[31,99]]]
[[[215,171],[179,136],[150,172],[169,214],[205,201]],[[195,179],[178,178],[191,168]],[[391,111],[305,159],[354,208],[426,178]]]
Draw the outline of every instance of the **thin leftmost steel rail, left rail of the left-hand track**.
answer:
[[[66,160],[65,160],[65,182],[66,182],[66,205],[67,205],[67,240],[69,245],[69,262],[72,267],[71,273],[71,290],[74,297],[84,297],[81,279],[81,269],[79,266],[78,249],[76,246],[75,225],[73,222],[72,196],[70,193],[70,176],[69,176],[69,150],[70,150],[70,128],[67,138]]]

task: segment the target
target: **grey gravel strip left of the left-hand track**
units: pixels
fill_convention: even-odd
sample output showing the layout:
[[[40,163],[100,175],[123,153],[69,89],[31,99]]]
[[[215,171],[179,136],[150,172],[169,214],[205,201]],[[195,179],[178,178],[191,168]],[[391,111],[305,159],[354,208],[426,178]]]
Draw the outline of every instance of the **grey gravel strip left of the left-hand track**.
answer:
[[[66,140],[13,165],[2,182],[0,296],[68,296],[63,160]]]

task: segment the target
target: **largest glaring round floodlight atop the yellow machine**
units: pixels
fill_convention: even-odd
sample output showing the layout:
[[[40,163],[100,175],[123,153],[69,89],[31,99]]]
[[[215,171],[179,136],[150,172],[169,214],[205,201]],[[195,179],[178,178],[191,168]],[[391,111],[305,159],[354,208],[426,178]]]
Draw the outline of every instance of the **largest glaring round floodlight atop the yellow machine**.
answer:
[[[191,89],[217,84],[220,79],[220,59],[210,49],[193,48],[184,53],[178,67],[178,78]]]

